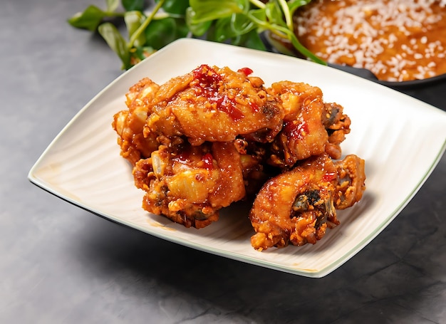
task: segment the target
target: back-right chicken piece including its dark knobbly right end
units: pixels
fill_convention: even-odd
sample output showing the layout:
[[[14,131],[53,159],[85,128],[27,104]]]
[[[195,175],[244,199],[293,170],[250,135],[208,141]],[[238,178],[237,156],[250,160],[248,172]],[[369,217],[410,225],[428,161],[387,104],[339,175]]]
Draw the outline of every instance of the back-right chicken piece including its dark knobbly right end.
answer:
[[[324,103],[320,88],[306,83],[276,82],[266,90],[284,110],[284,125],[271,145],[269,163],[282,169],[326,152],[341,157],[340,144],[350,132],[341,105]]]

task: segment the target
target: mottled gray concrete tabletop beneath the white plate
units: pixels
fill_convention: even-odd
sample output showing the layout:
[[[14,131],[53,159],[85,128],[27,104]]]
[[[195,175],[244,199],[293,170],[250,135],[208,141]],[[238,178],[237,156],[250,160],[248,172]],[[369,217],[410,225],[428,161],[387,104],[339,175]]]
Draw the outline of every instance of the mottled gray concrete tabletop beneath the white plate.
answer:
[[[446,323],[446,157],[385,231],[320,279],[187,249],[28,182],[122,73],[99,36],[66,23],[92,3],[105,1],[0,4],[0,323]]]

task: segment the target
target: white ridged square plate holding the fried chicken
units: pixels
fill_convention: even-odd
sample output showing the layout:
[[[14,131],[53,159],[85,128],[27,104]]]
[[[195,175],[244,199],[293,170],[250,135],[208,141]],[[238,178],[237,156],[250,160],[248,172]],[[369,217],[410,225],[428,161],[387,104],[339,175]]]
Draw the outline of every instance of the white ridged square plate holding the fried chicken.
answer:
[[[361,202],[338,212],[341,224],[315,245],[255,251],[249,206],[234,204],[204,229],[187,229],[141,207],[130,164],[120,157],[113,115],[126,109],[125,93],[141,78],[156,83],[206,63],[249,67],[266,85],[291,80],[316,85],[326,102],[343,105],[351,133],[343,155],[365,160]],[[239,261],[322,277],[368,244],[408,204],[446,147],[446,113],[394,90],[316,63],[247,48],[181,39],[120,75],[66,125],[28,174],[37,186],[68,202],[177,244]]]

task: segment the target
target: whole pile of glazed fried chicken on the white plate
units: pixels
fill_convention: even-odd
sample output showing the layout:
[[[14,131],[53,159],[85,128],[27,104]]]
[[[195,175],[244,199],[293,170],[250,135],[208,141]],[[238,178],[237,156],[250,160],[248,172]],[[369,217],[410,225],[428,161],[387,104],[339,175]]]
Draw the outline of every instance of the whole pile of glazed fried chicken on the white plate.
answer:
[[[320,88],[265,87],[251,73],[202,65],[161,85],[143,78],[113,117],[120,154],[146,211],[200,229],[253,199],[254,249],[315,244],[365,190],[363,160],[335,161],[351,120]]]

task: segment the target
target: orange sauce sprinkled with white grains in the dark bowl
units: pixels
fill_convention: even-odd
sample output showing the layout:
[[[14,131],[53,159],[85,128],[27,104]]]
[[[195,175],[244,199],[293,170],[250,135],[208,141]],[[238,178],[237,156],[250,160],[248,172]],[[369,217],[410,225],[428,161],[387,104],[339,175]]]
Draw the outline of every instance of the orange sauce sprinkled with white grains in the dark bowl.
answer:
[[[446,0],[316,0],[295,23],[311,52],[380,80],[446,73]]]

